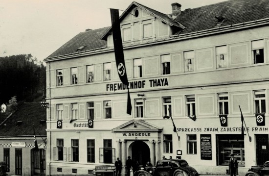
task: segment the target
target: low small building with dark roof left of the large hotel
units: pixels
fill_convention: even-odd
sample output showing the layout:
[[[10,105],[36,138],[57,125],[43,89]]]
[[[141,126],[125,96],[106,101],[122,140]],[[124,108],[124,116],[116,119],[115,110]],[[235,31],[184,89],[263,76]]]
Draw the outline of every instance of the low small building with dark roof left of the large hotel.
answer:
[[[45,176],[46,110],[40,102],[24,102],[5,113],[0,113],[0,162],[6,164],[7,174]]]

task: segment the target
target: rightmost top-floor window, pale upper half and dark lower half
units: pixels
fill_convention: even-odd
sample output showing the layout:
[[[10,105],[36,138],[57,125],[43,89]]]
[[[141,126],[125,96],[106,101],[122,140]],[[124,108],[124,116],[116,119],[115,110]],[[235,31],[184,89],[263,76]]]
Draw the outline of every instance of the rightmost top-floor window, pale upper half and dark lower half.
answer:
[[[264,40],[256,40],[251,42],[251,50],[253,63],[264,63]]]

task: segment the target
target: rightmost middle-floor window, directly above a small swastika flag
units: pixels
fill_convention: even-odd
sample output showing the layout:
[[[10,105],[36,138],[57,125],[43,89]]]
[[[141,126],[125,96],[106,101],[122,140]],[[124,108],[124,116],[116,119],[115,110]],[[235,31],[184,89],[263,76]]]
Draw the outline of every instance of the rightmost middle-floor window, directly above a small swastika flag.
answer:
[[[254,91],[255,113],[266,112],[265,100],[266,100],[265,90]]]

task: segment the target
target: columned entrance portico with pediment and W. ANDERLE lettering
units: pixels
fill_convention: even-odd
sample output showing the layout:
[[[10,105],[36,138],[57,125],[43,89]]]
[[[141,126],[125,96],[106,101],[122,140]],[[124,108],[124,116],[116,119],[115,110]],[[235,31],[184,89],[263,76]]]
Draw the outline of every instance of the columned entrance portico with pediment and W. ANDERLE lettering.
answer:
[[[160,159],[160,141],[162,128],[144,120],[132,120],[112,129],[118,144],[116,155],[123,166],[127,156],[134,162],[145,165],[147,161],[154,164]]]

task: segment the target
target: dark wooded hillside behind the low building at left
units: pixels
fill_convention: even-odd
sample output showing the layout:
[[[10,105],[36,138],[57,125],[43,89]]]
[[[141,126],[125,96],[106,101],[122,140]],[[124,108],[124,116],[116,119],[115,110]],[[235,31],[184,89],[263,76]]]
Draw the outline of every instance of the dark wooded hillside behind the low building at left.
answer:
[[[45,65],[31,54],[0,57],[0,103],[45,98]]]

